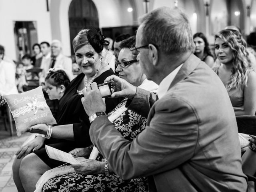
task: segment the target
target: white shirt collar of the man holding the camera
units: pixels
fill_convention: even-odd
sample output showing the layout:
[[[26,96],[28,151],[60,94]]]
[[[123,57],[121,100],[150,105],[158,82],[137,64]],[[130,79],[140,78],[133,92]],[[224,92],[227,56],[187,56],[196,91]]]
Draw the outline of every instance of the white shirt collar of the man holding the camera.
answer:
[[[157,95],[158,98],[162,98],[166,92],[168,91],[168,88],[170,87],[170,84],[172,83],[172,81],[174,80],[176,74],[178,73],[178,71],[180,70],[180,68],[182,67],[183,63],[178,66],[176,69],[174,69],[168,76],[166,76],[159,84],[159,87],[157,89]]]

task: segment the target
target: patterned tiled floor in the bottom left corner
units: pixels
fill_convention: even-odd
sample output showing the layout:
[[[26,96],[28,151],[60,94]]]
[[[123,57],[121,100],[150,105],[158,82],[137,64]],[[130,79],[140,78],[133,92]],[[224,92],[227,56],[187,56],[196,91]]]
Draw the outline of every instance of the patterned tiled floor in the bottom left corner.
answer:
[[[16,151],[30,134],[10,137],[8,132],[0,131],[0,135],[0,192],[18,192],[12,179],[12,162]]]

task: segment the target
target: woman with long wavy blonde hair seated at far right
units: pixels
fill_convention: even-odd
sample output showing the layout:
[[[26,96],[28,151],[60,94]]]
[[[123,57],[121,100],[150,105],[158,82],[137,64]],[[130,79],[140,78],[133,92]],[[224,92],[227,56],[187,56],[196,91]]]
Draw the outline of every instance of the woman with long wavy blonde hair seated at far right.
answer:
[[[256,73],[241,34],[229,29],[218,32],[215,35],[215,54],[221,64],[213,70],[226,86],[236,116],[255,115]],[[239,138],[244,150],[249,136],[239,134]]]

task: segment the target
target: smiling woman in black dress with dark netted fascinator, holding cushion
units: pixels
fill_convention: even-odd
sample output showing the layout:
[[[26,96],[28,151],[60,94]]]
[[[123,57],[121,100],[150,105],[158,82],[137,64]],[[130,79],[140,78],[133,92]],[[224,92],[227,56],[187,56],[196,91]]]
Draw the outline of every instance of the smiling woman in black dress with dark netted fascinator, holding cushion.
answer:
[[[74,148],[88,147],[90,121],[81,102],[82,91],[92,82],[102,84],[114,74],[104,62],[108,45],[100,31],[81,30],[73,40],[76,62],[82,71],[66,88],[59,101],[56,125],[38,124],[30,128],[36,137],[18,150],[12,170],[18,191],[34,191],[36,182],[52,168],[63,162],[50,159],[45,144],[69,152]],[[113,110],[119,99],[106,98],[106,113]]]

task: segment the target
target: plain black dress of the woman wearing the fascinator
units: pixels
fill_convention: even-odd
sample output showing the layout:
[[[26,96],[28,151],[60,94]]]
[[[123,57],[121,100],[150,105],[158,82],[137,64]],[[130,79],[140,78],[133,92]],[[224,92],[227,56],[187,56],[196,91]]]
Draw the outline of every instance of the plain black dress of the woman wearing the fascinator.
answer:
[[[93,82],[102,84],[108,76],[113,74],[114,72],[112,69],[107,70],[95,78]],[[58,105],[56,125],[73,124],[74,141],[50,138],[49,140],[45,140],[44,145],[46,144],[59,150],[70,152],[74,148],[87,147],[92,144],[89,136],[90,122],[81,102],[83,95],[77,94],[78,86],[83,80],[84,76],[85,75],[81,73],[74,78],[72,82],[70,82]],[[106,113],[108,114],[108,112],[113,110],[119,104],[119,102],[120,98],[106,98]],[[44,145],[34,153],[50,168],[63,164],[63,162],[50,159],[46,153]]]

